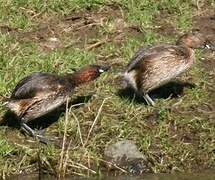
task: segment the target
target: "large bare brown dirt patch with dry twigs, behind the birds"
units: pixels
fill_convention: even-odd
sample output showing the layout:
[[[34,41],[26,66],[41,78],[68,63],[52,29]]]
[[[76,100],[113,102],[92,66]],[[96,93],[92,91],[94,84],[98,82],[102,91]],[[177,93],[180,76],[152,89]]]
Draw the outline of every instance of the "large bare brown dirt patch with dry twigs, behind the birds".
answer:
[[[112,6],[43,18],[33,29],[23,32],[0,26],[2,33],[13,32],[19,42],[34,42],[43,51],[69,47],[92,50],[105,43],[121,44],[129,36],[142,35],[139,27],[126,23],[120,9]]]

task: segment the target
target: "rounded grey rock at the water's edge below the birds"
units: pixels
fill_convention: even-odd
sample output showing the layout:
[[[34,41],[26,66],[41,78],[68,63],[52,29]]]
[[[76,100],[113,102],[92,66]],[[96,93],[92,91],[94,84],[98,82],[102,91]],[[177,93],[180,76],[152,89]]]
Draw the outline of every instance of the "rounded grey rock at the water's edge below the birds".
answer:
[[[114,166],[125,169],[132,174],[149,172],[149,163],[146,157],[138,150],[135,143],[131,140],[118,141],[105,148],[104,156],[110,169]]]

